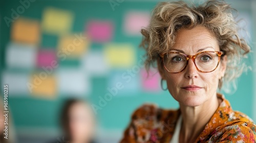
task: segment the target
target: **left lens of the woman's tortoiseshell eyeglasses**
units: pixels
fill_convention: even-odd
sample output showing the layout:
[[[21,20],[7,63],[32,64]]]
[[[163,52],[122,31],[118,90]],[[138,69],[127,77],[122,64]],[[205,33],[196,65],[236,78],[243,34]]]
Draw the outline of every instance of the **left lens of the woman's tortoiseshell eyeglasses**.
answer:
[[[178,73],[186,66],[186,57],[182,54],[169,53],[164,56],[164,65],[171,73]]]

